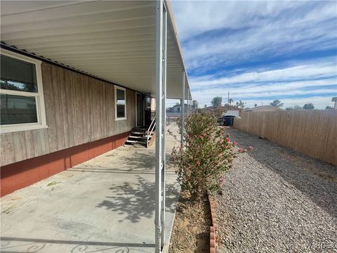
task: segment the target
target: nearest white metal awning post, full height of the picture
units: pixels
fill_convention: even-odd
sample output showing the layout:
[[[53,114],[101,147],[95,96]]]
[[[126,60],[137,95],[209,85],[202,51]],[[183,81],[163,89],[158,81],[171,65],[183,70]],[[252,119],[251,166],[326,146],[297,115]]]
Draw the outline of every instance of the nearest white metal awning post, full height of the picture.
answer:
[[[164,247],[165,225],[165,131],[166,131],[166,31],[167,13],[163,0],[156,6],[156,175],[155,175],[155,252]]]

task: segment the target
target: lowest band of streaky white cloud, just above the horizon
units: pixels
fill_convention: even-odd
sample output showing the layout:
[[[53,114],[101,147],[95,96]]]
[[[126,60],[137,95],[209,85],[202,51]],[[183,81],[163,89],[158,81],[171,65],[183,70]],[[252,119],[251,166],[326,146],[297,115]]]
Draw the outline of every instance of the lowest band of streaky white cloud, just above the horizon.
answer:
[[[214,96],[227,98],[227,92],[230,92],[231,98],[236,101],[244,100],[250,106],[254,103],[269,104],[277,98],[285,106],[301,105],[303,101],[307,103],[321,95],[320,100],[315,98],[312,101],[319,103],[316,105],[318,108],[325,108],[332,104],[331,97],[337,95],[337,70],[336,63],[333,62],[323,61],[207,79],[190,79],[193,98],[207,105]]]

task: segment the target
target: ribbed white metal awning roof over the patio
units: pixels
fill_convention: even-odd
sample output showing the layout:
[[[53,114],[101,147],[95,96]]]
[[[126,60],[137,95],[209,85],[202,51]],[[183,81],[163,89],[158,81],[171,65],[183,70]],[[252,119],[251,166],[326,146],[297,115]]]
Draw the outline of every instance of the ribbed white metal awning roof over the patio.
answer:
[[[185,70],[168,6],[167,98]],[[1,1],[1,41],[155,96],[156,1]],[[188,98],[188,80],[185,98]]]

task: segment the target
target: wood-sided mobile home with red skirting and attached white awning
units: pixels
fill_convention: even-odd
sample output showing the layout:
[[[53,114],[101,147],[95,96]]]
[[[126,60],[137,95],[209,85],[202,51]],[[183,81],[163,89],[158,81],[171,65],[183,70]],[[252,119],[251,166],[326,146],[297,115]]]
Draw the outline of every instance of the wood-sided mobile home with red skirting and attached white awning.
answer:
[[[166,96],[181,99],[185,65],[165,3]],[[1,2],[1,195],[117,148],[151,123],[164,51],[148,36],[156,12],[156,1]]]

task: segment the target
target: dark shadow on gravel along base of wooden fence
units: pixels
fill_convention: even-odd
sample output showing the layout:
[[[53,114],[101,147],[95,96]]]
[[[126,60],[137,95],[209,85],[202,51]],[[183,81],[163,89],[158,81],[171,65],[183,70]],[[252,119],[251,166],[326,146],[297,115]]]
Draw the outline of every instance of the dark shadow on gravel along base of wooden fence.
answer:
[[[319,207],[337,218],[337,167],[308,157],[291,148],[263,140],[236,129],[228,129],[232,141],[242,148],[254,146],[247,155],[275,171]]]

